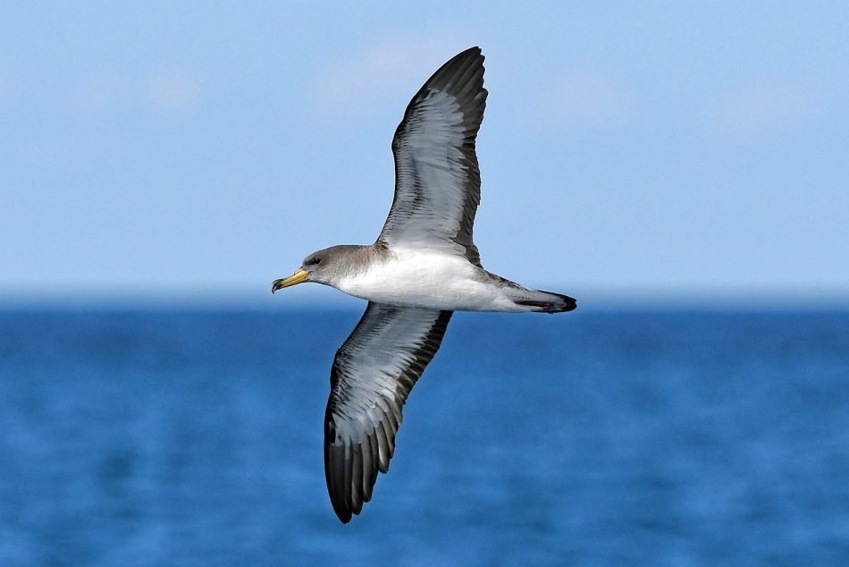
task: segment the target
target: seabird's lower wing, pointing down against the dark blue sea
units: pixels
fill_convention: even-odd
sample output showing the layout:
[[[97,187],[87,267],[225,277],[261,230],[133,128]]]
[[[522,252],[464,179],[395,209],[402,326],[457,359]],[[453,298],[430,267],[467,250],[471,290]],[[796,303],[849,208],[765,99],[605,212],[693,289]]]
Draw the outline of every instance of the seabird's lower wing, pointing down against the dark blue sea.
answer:
[[[324,414],[324,475],[333,510],[347,523],[389,470],[401,408],[439,349],[451,311],[369,302],[336,352]]]

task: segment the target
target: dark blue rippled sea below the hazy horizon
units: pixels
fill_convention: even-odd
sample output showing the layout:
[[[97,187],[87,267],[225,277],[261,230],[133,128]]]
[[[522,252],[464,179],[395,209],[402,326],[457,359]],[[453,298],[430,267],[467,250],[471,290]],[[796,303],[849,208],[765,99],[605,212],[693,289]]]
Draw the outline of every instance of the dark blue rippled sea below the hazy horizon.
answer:
[[[359,312],[0,312],[0,565],[849,564],[849,313],[459,313],[374,499]]]

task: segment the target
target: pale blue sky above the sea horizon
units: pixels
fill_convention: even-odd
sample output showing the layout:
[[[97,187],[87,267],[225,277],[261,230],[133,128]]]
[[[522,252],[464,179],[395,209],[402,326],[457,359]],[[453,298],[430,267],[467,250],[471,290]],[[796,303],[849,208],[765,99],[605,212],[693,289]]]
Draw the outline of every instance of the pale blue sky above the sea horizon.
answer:
[[[0,4],[0,302],[298,306],[471,46],[475,242],[582,300],[849,304],[849,3]],[[312,288],[312,289],[306,289]]]

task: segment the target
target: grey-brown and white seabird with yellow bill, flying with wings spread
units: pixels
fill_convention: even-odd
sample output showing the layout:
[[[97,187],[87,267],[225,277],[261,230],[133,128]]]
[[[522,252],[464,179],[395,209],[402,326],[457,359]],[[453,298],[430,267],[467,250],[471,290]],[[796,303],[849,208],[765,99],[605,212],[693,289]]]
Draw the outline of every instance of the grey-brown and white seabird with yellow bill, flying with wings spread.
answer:
[[[336,351],[324,414],[324,475],[343,523],[371,500],[395,452],[401,409],[440,347],[454,311],[561,313],[567,295],[483,269],[472,241],[481,199],[475,138],[483,120],[483,55],[472,47],[433,73],[395,131],[395,199],[374,244],[307,256],[272,292],[324,283],[368,300]]]

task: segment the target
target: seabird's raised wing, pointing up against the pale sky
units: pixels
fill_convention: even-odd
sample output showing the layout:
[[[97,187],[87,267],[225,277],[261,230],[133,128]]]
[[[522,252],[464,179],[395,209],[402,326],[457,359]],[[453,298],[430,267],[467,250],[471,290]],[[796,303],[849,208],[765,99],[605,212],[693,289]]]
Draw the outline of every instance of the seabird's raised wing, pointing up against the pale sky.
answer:
[[[483,120],[483,55],[472,47],[442,65],[395,131],[395,200],[378,241],[453,250],[480,265],[472,241],[481,202],[475,138]]]

